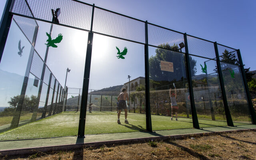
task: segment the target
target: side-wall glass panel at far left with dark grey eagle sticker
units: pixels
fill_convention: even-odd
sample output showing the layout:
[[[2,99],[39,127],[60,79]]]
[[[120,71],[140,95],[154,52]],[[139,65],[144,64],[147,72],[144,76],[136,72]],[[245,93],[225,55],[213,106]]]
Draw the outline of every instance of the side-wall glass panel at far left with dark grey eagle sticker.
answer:
[[[16,22],[12,21],[0,63],[0,133],[9,130],[11,124],[15,127],[23,125],[18,122],[29,117],[24,110],[20,117],[17,105],[31,47]]]

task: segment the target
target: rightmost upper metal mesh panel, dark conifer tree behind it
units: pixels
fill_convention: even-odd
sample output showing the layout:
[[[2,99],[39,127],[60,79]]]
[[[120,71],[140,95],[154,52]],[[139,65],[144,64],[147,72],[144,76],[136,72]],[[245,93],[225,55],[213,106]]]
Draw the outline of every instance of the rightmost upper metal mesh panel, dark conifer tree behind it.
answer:
[[[217,44],[220,61],[239,65],[236,50]]]

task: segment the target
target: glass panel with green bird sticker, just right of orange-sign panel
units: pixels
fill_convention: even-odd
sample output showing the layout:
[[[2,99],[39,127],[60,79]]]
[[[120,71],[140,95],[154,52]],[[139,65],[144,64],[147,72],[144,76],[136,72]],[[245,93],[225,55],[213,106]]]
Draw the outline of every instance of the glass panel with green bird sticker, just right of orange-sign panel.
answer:
[[[196,113],[200,127],[227,126],[217,63],[191,56]]]

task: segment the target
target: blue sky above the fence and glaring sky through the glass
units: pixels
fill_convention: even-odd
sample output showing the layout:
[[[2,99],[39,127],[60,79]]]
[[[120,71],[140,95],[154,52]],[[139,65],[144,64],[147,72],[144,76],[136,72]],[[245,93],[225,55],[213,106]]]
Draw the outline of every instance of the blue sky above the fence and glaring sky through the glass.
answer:
[[[5,0],[0,1],[0,16],[2,15]],[[255,42],[256,22],[254,8],[256,1],[253,0],[82,0],[88,4],[118,12],[140,20],[148,20],[148,22],[170,28],[179,32],[187,33],[218,42],[225,46],[240,49],[245,68],[256,70],[256,54],[254,54],[253,46]],[[60,15],[61,18],[62,15]],[[50,30],[50,24],[38,22],[40,29],[36,41],[36,51],[44,58],[46,50],[46,32]],[[16,28],[16,29],[15,29]],[[16,33],[15,24],[11,26],[12,32]],[[84,63],[86,58],[86,43],[88,33],[75,30],[72,28],[64,28],[54,25],[52,37],[57,37],[62,33],[63,40],[58,44],[58,48],[50,48],[47,65],[53,72],[54,76],[64,86],[66,68],[71,71],[68,73],[67,86],[71,88],[82,88]],[[14,38],[16,36],[16,38]],[[17,59],[16,65],[8,64],[8,61],[1,61],[0,69],[8,72],[24,75],[26,66],[26,58],[30,52],[30,44],[26,42],[26,38],[19,33],[17,35],[10,34],[8,37],[10,50],[15,54]],[[15,41],[13,41],[15,39]],[[16,50],[12,45],[18,44],[22,40],[24,48],[24,56],[20,57],[16,54]],[[116,46],[122,50],[128,48],[128,54],[125,60],[116,58]],[[154,55],[155,48],[150,48],[149,56]],[[6,49],[7,52],[7,49]],[[6,54],[6,59],[11,54]],[[4,56],[3,56],[4,58]],[[21,60],[23,58],[24,60]],[[12,59],[16,62],[14,59]],[[199,64],[204,60],[197,58],[197,70],[200,71]],[[131,65],[132,64],[132,65]],[[8,67],[7,67],[8,66]],[[90,89],[102,89],[110,86],[120,85],[127,82],[128,74],[133,78],[144,75],[144,46],[132,42],[109,38],[94,34],[92,49],[92,64],[90,72]],[[202,74],[198,72],[198,74]],[[32,76],[33,77],[33,76]],[[19,89],[20,90],[20,89]]]

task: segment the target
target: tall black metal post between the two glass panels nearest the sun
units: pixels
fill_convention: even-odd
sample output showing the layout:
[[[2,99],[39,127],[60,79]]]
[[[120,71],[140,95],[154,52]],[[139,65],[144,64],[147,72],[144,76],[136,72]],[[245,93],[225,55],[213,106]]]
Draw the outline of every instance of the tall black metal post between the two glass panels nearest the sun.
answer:
[[[91,30],[88,33],[86,60],[85,60],[85,66],[84,66],[84,80],[83,80],[82,102],[81,102],[80,118],[79,118],[79,126],[78,126],[78,138],[84,138],[86,108],[87,108],[87,99],[88,99],[88,90],[89,90],[89,78],[90,78],[90,69],[91,69],[91,60],[92,60],[93,17],[94,17],[94,4],[92,6]]]

